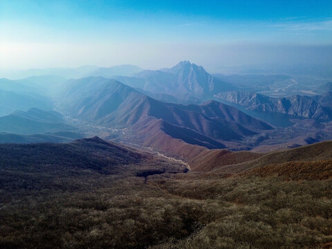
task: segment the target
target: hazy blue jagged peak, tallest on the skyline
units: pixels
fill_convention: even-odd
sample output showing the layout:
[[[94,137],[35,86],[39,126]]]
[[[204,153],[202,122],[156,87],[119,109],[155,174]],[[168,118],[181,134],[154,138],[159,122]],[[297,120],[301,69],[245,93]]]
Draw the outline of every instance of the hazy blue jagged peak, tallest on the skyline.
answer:
[[[237,89],[212,77],[203,66],[188,61],[180,62],[172,68],[142,71],[132,77],[115,77],[115,79],[136,89],[154,94],[163,93],[181,100],[195,97],[209,98],[222,91]]]

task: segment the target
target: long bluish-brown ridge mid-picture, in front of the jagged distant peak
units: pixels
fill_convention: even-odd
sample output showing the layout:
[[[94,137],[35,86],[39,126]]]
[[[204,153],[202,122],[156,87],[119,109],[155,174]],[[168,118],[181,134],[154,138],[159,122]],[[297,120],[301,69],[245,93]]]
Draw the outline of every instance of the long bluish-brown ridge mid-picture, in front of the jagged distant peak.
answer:
[[[130,128],[135,131],[133,136],[138,136],[138,131],[142,133],[151,125],[154,127],[150,127],[151,131],[162,129],[168,131],[168,135],[172,133],[172,136],[187,142],[194,142],[194,139],[189,139],[189,134],[195,133],[195,139],[202,140],[194,144],[202,145],[210,140],[208,147],[224,147],[216,140],[241,140],[252,136],[256,134],[250,129],[252,127],[271,129],[268,124],[219,102],[187,106],[160,102],[120,82],[102,77],[71,81],[61,102],[69,115],[102,127]],[[156,120],[165,122],[156,124]]]

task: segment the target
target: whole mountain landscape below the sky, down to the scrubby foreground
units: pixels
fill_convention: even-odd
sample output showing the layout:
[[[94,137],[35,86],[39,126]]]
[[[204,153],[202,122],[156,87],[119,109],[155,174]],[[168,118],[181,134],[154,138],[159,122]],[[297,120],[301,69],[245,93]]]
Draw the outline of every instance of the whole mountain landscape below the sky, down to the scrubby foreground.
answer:
[[[0,248],[331,245],[329,91],[187,61],[52,72],[0,81]]]

